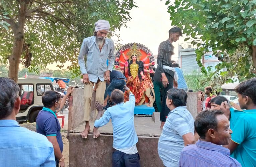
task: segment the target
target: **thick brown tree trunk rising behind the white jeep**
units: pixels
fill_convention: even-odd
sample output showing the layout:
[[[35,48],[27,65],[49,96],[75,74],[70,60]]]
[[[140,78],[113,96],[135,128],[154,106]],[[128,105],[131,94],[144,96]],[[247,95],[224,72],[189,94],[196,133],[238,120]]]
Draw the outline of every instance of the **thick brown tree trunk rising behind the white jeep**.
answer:
[[[8,77],[13,79],[15,82],[18,81],[19,63],[24,43],[24,25],[26,20],[26,12],[27,1],[21,0],[18,23],[16,23],[15,26],[12,27],[14,33],[12,54],[8,58],[10,64]]]

